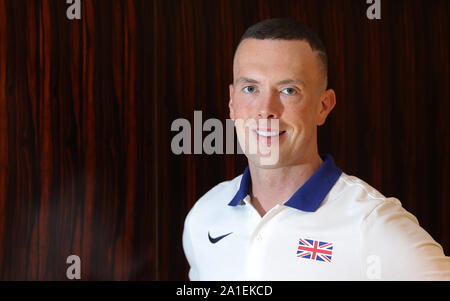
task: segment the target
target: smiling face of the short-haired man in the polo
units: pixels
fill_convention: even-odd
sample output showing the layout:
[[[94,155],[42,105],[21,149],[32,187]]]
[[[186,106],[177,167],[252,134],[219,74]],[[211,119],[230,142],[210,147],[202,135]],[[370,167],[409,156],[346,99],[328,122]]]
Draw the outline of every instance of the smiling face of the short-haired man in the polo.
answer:
[[[277,145],[278,160],[269,168],[301,164],[317,153],[317,125],[325,122],[335,103],[334,92],[325,91],[321,68],[305,41],[241,42],[229,107],[230,118],[243,121],[236,122],[236,131],[250,162],[261,166],[261,154],[249,154],[244,141],[266,150]]]

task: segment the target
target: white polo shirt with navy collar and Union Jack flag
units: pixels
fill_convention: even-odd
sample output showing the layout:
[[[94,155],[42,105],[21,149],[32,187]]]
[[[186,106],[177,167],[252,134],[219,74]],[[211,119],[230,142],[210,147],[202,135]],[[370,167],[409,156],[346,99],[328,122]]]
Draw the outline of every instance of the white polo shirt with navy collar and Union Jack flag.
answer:
[[[191,280],[450,280],[450,257],[395,198],[345,174],[331,155],[261,217],[250,172],[220,183],[189,212]]]

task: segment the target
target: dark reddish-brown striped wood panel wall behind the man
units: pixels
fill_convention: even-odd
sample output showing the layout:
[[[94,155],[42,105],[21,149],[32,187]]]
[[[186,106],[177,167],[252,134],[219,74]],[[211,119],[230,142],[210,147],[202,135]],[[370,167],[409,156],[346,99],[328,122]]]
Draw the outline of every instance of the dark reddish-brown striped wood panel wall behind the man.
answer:
[[[449,2],[0,0],[0,279],[180,280],[184,217],[242,155],[174,155],[172,121],[228,117],[234,47],[315,29],[337,106],[319,149],[399,198],[450,252]],[[204,135],[206,135],[205,133]]]

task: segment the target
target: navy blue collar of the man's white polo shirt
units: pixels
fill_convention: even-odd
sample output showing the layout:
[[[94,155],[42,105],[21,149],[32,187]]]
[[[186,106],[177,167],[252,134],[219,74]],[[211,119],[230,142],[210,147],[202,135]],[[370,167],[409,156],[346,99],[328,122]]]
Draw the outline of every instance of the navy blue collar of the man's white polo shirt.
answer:
[[[330,154],[320,155],[323,160],[319,169],[303,184],[292,197],[284,203],[285,206],[296,208],[298,210],[314,212],[319,208],[323,199],[334,186],[342,174],[342,170],[334,164],[334,159]],[[250,192],[252,179],[250,170],[244,171],[241,179],[241,185],[234,198],[228,204],[229,206],[238,205]]]

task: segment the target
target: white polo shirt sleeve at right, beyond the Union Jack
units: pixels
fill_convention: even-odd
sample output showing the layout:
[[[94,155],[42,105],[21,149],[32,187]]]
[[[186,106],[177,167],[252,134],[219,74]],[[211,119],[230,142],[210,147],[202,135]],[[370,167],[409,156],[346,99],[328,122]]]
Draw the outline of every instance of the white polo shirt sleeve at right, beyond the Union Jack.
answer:
[[[360,241],[362,279],[450,280],[450,257],[395,198],[364,218]]]

